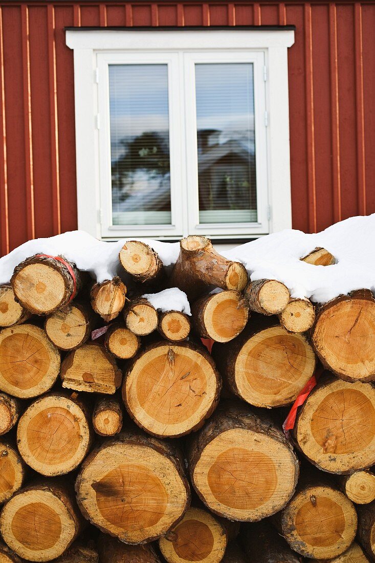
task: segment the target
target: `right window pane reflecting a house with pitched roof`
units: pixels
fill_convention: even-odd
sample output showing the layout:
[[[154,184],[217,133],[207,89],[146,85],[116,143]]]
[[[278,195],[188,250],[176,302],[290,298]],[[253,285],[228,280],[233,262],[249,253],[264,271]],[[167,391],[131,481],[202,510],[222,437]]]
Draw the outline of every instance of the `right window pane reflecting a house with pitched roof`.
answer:
[[[196,64],[199,222],[257,221],[252,63]]]

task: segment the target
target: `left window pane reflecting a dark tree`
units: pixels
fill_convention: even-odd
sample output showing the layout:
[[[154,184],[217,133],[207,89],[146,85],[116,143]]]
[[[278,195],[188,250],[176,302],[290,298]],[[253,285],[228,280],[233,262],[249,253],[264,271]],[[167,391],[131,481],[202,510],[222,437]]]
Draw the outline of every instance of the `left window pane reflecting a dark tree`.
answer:
[[[168,67],[109,65],[113,225],[170,225]]]

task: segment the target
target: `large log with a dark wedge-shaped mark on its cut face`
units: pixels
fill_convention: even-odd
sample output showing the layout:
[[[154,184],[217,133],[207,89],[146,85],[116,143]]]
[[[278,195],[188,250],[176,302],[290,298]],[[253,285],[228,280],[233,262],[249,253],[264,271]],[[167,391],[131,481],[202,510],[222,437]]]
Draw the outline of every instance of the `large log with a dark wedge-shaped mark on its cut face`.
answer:
[[[177,450],[165,441],[130,432],[107,440],[88,455],[75,491],[92,524],[130,544],[166,534],[190,503]]]

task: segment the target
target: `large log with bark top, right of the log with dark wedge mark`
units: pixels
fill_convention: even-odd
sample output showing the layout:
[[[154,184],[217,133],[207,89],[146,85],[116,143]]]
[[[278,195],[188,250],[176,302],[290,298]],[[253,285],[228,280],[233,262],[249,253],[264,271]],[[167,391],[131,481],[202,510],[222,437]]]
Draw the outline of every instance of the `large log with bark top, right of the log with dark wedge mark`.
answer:
[[[253,522],[281,510],[292,497],[298,460],[265,414],[222,404],[194,436],[187,453],[190,479],[218,516]]]

